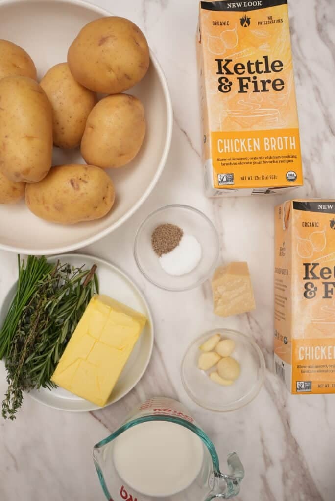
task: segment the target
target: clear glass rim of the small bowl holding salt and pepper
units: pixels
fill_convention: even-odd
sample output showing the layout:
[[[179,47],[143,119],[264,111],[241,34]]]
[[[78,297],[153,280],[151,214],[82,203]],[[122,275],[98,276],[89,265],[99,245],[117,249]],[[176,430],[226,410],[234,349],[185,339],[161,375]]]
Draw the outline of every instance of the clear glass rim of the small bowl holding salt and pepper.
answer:
[[[136,252],[136,245],[137,245],[137,239],[138,239],[139,232],[142,229],[142,227],[144,226],[144,224],[147,222],[147,220],[150,219],[150,217],[152,217],[155,214],[157,214],[158,212],[163,212],[164,210],[172,209],[172,208],[187,209],[187,210],[191,210],[193,212],[197,212],[204,219],[206,219],[207,222],[209,223],[209,225],[212,227],[213,233],[215,234],[215,238],[216,238],[216,241],[217,241],[216,256],[215,256],[215,259],[213,261],[213,265],[211,266],[210,270],[208,271],[208,274],[206,276],[204,276],[202,279],[198,280],[198,282],[196,282],[195,284],[193,284],[191,286],[188,286],[188,287],[183,287],[181,289],[171,289],[170,287],[164,287],[164,286],[158,284],[157,282],[155,282],[154,280],[152,280],[150,277],[148,277],[148,275],[146,275],[146,273],[144,272],[144,270],[142,269],[142,267],[139,264],[139,261],[138,261],[138,258],[137,258],[137,252]],[[135,260],[135,263],[137,265],[137,268],[139,269],[139,271],[141,272],[141,274],[143,275],[143,277],[145,277],[146,280],[148,282],[150,282],[150,284],[158,287],[159,289],[162,289],[163,291],[169,291],[169,292],[185,292],[185,291],[190,291],[192,289],[195,289],[196,287],[201,286],[204,282],[206,282],[206,280],[214,272],[216,264],[217,264],[219,256],[220,256],[220,239],[219,239],[219,234],[218,234],[218,231],[217,231],[216,227],[214,226],[214,224],[210,220],[210,218],[206,214],[204,214],[204,212],[202,212],[201,210],[199,210],[199,209],[197,209],[195,207],[192,207],[191,205],[184,205],[184,204],[181,204],[181,203],[173,203],[173,204],[170,204],[170,205],[163,205],[162,207],[159,207],[158,209],[154,210],[153,212],[150,212],[150,214],[148,214],[146,216],[146,218],[138,226],[136,234],[135,234],[134,247],[133,247],[133,255],[134,255],[134,260]]]

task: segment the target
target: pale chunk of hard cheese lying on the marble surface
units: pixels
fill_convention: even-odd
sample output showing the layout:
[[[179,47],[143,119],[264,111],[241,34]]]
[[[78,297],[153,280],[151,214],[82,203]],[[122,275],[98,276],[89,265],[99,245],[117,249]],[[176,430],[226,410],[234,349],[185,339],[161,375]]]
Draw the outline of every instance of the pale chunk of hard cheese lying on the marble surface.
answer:
[[[245,262],[230,263],[216,269],[212,279],[214,313],[230,317],[255,309],[255,300]]]

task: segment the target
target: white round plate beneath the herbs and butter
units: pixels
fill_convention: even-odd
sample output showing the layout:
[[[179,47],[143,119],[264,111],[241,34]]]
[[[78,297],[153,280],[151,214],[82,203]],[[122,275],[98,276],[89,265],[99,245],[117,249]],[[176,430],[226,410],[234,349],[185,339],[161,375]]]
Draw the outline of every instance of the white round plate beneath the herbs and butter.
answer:
[[[153,324],[149,307],[133,281],[116,266],[107,261],[92,256],[85,256],[84,254],[53,256],[50,258],[50,261],[56,261],[57,259],[61,263],[69,263],[75,267],[85,264],[86,268],[91,268],[96,264],[98,267],[99,292],[130,306],[145,315],[148,319],[107,403],[107,405],[113,404],[132,390],[141,379],[149,363],[153,348]],[[0,326],[4,323],[15,291],[16,284],[13,285],[3,302],[0,310]],[[33,390],[28,394],[41,404],[59,410],[80,412],[101,408],[59,387],[52,390],[41,388],[40,390]]]

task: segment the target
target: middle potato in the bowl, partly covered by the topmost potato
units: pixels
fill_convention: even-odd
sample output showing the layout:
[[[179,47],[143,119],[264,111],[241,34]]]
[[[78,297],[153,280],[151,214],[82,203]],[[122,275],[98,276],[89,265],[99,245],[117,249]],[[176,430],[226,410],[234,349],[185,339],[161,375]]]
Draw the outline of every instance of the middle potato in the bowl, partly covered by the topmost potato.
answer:
[[[76,82],[67,63],[50,68],[40,85],[53,108],[54,144],[60,148],[76,148],[87,117],[97,102],[96,94]]]

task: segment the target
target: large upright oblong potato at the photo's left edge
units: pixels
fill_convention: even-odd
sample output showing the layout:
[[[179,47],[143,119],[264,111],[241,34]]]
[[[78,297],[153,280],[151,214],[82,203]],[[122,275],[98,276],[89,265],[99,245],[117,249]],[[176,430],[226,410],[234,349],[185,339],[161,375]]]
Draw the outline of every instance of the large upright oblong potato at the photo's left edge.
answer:
[[[0,170],[12,181],[37,182],[49,172],[52,108],[37,82],[0,80]]]

